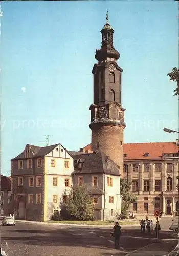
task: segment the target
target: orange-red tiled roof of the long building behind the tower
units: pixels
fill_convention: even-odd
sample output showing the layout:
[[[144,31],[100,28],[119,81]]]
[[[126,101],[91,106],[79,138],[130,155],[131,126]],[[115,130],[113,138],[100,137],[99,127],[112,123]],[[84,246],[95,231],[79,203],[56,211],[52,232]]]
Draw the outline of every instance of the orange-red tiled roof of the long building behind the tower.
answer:
[[[83,149],[91,150],[91,144]],[[176,142],[127,143],[124,144],[124,153],[127,154],[124,160],[160,159],[163,153],[177,153],[178,150]],[[144,156],[145,153],[149,156]]]

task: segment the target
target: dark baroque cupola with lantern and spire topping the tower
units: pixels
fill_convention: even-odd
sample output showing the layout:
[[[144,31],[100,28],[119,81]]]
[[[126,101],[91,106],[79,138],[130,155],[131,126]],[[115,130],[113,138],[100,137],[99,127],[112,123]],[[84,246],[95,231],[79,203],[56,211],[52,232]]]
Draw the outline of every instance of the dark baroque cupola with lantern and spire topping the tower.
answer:
[[[116,61],[119,59],[120,54],[113,46],[113,33],[114,30],[108,23],[108,11],[106,14],[106,24],[101,30],[102,44],[101,49],[96,50],[95,58],[101,62]]]

